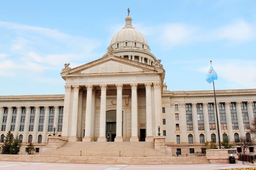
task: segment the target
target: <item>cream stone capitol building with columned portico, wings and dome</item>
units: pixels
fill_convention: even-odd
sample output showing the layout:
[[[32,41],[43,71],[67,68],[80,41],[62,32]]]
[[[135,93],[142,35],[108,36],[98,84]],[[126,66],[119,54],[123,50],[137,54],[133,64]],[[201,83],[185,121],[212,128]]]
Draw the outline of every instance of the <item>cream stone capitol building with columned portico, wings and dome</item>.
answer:
[[[65,64],[65,94],[0,96],[0,146],[11,130],[21,152],[28,143],[41,152],[54,126],[68,142],[153,142],[160,126],[165,146],[189,154],[201,152],[205,141],[218,144],[216,111],[221,141],[252,137],[256,89],[216,90],[217,103],[213,90],[169,91],[160,59],[128,15],[102,58]]]

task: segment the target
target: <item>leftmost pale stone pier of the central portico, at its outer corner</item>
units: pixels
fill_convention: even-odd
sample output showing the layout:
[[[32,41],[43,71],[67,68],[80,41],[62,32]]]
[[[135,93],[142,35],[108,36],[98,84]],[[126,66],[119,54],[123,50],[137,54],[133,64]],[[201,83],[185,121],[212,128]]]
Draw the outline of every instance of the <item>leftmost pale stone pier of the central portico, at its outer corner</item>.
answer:
[[[63,122],[62,122],[62,137],[68,137],[68,122],[69,122],[69,110],[70,110],[70,91],[72,86],[65,86],[65,96],[64,96],[64,108],[63,108]]]

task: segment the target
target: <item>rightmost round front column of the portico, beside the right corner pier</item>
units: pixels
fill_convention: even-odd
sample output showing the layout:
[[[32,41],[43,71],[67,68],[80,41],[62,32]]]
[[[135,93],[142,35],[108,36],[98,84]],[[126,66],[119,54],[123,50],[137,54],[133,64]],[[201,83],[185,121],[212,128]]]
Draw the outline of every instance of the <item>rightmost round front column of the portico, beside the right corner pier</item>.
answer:
[[[153,142],[152,133],[152,106],[151,106],[151,85],[152,83],[145,83],[146,87],[146,142]]]

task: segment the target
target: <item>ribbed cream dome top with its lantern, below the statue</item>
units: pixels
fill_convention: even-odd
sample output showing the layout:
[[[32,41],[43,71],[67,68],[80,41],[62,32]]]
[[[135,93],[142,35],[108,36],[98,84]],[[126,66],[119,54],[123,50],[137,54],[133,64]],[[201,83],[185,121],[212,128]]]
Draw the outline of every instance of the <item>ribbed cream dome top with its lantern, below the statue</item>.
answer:
[[[125,21],[125,27],[112,37],[109,45],[124,41],[135,41],[148,45],[148,41],[144,35],[132,27],[132,18],[129,15],[125,18]]]

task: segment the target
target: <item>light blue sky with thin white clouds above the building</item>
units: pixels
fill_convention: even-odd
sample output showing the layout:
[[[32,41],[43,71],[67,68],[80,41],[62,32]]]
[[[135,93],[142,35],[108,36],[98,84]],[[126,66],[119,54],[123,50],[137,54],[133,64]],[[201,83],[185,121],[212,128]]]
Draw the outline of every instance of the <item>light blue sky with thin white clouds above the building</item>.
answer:
[[[1,1],[0,95],[64,94],[60,72],[101,58],[133,26],[166,71],[170,91],[256,88],[255,1]]]

